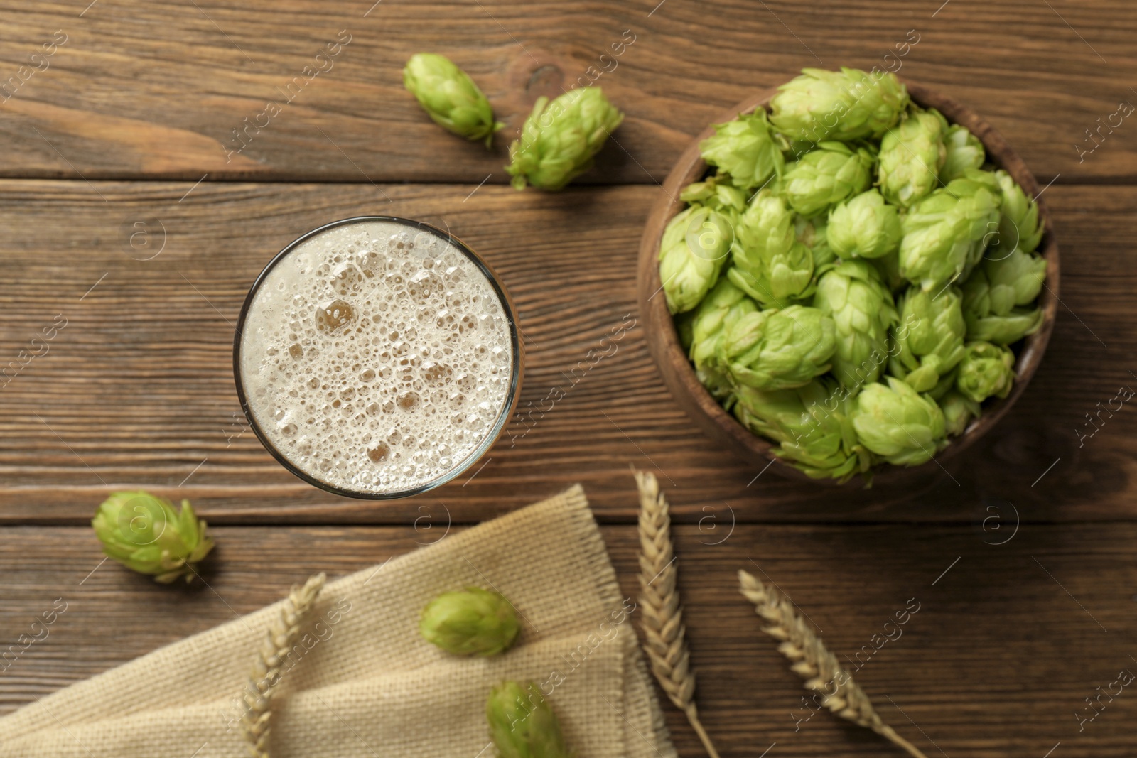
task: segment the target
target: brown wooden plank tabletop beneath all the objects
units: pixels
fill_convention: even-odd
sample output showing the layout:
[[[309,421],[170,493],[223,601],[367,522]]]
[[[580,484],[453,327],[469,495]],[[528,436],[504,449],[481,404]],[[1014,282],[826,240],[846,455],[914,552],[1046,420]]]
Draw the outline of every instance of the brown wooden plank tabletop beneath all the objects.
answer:
[[[929,756],[1137,752],[1137,694],[1081,731],[1076,716],[1137,670],[1137,416],[1102,414],[1079,439],[1096,428],[1087,414],[1137,383],[1137,124],[1099,128],[1137,102],[1131,3],[88,1],[0,3],[0,364],[19,367],[0,391],[0,641],[68,603],[0,674],[0,713],[312,573],[413,550],[439,534],[426,526],[462,528],[573,482],[633,593],[636,466],[658,472],[681,522],[698,702],[724,756],[902,755],[835,718],[795,730],[800,684],[736,592],[739,568],[788,592],[839,656],[915,598],[903,639],[857,678]],[[492,151],[439,130],[402,90],[421,50],[483,86],[508,124]],[[433,220],[491,261],[526,334],[522,409],[540,402],[637,318],[641,226],[690,136],[756,89],[838,65],[901,65],[972,106],[1055,214],[1063,308],[1046,359],[939,481],[846,492],[750,470],[679,410],[641,326],[538,423],[515,423],[476,475],[409,500],[302,484],[243,424],[231,342],[250,282],[300,233],[359,214]],[[530,103],[597,75],[626,113],[597,168],[559,194],[509,189],[505,148]],[[268,101],[280,113],[246,130]],[[100,563],[86,523],[107,492],[134,488],[189,498],[209,520],[208,586]],[[680,753],[700,755],[681,715],[667,718]]]

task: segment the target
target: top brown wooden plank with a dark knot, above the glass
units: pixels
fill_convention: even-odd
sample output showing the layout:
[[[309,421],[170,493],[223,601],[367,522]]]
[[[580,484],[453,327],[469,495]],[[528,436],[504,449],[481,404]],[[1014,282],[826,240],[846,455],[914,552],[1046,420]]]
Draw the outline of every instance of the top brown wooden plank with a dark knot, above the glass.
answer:
[[[503,183],[536,98],[595,80],[628,118],[584,181],[650,184],[722,108],[847,65],[973,107],[1043,183],[1137,177],[1119,115],[1137,73],[1124,0],[86,5],[0,3],[2,176]],[[422,50],[487,92],[508,125],[493,152],[402,89]]]

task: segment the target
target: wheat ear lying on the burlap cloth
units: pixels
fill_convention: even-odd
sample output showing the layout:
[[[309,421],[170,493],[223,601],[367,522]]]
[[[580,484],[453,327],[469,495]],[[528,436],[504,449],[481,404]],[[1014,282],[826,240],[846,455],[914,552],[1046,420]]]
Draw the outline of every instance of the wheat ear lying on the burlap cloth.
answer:
[[[249,755],[252,758],[268,758],[273,692],[283,673],[284,660],[292,652],[292,644],[300,634],[304,617],[316,602],[322,589],[323,574],[310,577],[304,586],[292,585],[280,617],[269,627],[260,652],[252,661],[249,686],[244,691],[244,715],[241,717],[241,731],[249,742]]]

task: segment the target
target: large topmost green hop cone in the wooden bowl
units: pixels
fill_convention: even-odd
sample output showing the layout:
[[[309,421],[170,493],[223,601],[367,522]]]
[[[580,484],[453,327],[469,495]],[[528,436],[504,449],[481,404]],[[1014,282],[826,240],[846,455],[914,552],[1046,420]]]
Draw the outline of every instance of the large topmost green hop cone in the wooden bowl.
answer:
[[[907,88],[893,74],[804,68],[778,88],[770,122],[795,141],[879,138],[907,105]]]

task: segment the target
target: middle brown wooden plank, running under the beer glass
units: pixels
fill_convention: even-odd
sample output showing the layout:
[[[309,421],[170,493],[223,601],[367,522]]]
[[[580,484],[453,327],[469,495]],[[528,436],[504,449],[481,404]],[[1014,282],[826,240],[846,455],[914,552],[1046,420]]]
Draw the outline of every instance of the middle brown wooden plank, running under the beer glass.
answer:
[[[918,492],[835,490],[752,470],[674,403],[639,325],[614,350],[601,342],[637,318],[634,255],[656,190],[471,190],[0,182],[0,365],[45,350],[0,390],[0,519],[80,524],[108,491],[146,488],[191,499],[215,523],[410,524],[422,507],[470,523],[582,482],[597,514],[619,520],[634,513],[630,465],[657,467],[678,517],[692,522],[708,513],[744,522],[982,520],[985,498],[1038,520],[1137,515],[1137,416],[1128,406],[1103,413],[1101,431],[1079,442],[1095,428],[1086,414],[1115,406],[1118,386],[1135,382],[1126,261],[1137,189],[1047,190],[1063,308],[1046,359],[1011,415]],[[528,349],[525,419],[484,468],[385,503],[304,484],[241,433],[231,361],[240,305],[272,255],[306,230],[366,213],[434,219],[482,252],[516,300]],[[151,248],[127,243],[135,220],[150,225]],[[130,257],[158,250],[161,228],[160,255]],[[66,326],[42,341],[59,318]],[[589,350],[612,355],[590,366]],[[553,388],[566,397],[550,407]]]

